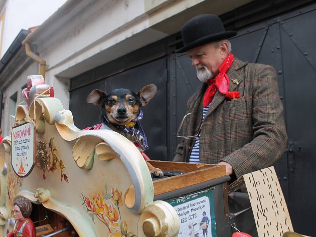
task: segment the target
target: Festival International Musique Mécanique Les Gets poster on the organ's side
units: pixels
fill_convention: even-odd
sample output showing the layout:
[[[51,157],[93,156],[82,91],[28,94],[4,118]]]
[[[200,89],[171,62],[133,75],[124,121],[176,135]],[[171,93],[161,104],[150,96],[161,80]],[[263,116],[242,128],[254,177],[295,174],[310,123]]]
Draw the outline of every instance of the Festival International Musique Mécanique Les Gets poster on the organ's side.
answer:
[[[216,237],[213,188],[168,200],[178,213],[179,237]]]

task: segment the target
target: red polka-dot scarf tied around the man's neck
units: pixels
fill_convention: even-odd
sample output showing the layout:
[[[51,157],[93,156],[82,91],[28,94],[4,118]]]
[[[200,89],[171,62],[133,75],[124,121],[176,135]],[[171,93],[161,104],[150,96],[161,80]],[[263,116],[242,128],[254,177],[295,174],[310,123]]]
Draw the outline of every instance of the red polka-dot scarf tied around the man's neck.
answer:
[[[219,66],[219,74],[215,77],[215,79],[210,79],[206,84],[209,85],[209,88],[206,90],[203,98],[203,106],[208,106],[217,91],[219,90],[220,93],[226,95],[228,93],[229,88],[229,78],[226,74],[230,66],[234,61],[234,55],[230,53],[226,59],[223,61],[221,66]],[[215,82],[215,83],[214,83]]]

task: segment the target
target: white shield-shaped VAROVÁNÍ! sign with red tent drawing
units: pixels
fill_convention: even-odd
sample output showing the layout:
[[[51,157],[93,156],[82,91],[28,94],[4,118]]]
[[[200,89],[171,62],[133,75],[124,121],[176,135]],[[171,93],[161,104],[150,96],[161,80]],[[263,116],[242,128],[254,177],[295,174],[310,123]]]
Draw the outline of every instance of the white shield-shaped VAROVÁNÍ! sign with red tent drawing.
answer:
[[[28,176],[34,166],[35,129],[33,123],[12,128],[11,164],[19,177]]]

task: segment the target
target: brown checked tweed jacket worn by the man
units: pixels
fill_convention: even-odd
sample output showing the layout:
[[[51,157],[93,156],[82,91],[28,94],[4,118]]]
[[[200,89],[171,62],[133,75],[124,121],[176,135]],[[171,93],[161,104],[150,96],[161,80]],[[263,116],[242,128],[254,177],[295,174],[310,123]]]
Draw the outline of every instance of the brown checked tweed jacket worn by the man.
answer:
[[[229,91],[239,91],[240,98],[228,100],[219,91],[215,93],[201,127],[200,163],[225,161],[238,178],[278,160],[287,135],[274,69],[235,58],[227,75]],[[206,89],[204,83],[188,100],[191,115],[184,125],[185,136],[195,135],[200,128]],[[174,161],[188,162],[193,145],[193,140],[182,139]]]

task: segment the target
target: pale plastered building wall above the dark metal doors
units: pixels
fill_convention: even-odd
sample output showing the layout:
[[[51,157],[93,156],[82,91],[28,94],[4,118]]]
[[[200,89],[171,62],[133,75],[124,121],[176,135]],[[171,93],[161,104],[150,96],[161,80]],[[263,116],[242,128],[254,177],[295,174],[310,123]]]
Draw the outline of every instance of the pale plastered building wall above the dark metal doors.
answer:
[[[40,29],[33,44],[47,62],[45,80],[68,108],[65,85],[69,78],[175,34],[197,14],[222,14],[251,0],[235,2],[83,0],[52,22],[49,29]]]

